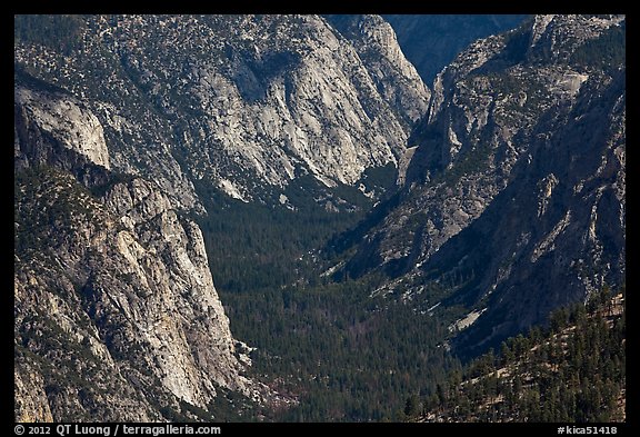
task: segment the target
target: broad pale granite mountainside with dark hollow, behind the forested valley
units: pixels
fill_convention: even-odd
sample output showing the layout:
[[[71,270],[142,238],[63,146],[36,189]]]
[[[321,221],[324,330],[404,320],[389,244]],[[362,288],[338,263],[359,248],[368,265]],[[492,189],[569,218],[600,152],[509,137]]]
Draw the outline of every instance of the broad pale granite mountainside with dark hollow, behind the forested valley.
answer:
[[[361,28],[379,59],[314,16],[90,17],[82,51],[19,42],[16,59],[88,99],[114,169],[198,209],[194,181],[250,200],[397,162],[429,91],[387,23]]]

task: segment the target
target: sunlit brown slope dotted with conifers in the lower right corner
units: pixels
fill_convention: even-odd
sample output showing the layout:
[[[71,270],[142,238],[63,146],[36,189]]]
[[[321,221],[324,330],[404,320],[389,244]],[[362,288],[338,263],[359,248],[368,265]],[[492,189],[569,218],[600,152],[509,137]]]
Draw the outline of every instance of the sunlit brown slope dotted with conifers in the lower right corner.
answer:
[[[622,420],[626,390],[624,287],[560,308],[546,329],[511,337],[449,374],[412,416],[444,421],[608,423]],[[412,395],[411,395],[412,396]],[[411,398],[409,396],[409,398]],[[407,404],[416,404],[414,400]]]

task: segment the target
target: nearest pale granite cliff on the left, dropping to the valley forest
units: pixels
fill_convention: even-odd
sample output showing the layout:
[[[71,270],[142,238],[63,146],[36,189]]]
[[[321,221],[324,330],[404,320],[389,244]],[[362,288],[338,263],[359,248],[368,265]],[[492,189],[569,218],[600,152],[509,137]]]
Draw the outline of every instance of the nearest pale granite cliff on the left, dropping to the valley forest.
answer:
[[[241,375],[198,226],[157,183],[112,175],[87,149],[68,145],[83,155],[60,160],[77,123],[31,110],[56,96],[17,95],[38,99],[16,99],[16,419],[176,419],[219,388],[263,401],[269,390]],[[88,189],[73,173],[99,177]]]

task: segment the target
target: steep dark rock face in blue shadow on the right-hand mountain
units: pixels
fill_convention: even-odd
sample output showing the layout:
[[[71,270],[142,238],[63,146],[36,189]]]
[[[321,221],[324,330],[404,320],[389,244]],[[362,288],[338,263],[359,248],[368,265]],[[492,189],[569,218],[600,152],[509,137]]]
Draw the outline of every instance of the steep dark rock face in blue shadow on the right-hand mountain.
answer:
[[[426,264],[466,277],[451,302],[487,308],[460,346],[486,349],[624,282],[624,88],[622,71],[582,90],[556,131],[532,141],[531,162]]]

